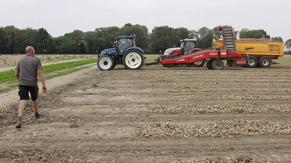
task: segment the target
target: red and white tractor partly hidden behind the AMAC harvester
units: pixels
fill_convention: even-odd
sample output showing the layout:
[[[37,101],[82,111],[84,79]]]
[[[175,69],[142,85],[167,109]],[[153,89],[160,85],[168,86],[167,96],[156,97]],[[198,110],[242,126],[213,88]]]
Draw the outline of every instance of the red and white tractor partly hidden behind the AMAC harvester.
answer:
[[[197,39],[184,39],[178,41],[178,47],[166,49],[164,54],[162,55],[163,59],[176,58],[180,55],[186,55],[189,53],[197,52],[202,49],[197,47]],[[202,67],[205,64],[206,60],[200,60],[194,63],[188,64],[179,64],[179,66],[191,66],[191,67]],[[172,64],[163,64],[165,67],[176,67],[178,65]]]

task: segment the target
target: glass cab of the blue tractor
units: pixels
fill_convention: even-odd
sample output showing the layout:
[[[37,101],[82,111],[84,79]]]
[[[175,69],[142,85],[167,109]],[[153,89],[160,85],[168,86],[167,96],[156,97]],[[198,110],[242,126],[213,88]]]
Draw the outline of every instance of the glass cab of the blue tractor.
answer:
[[[135,47],[135,36],[116,37],[114,46],[117,48],[118,55],[123,55],[125,49]]]

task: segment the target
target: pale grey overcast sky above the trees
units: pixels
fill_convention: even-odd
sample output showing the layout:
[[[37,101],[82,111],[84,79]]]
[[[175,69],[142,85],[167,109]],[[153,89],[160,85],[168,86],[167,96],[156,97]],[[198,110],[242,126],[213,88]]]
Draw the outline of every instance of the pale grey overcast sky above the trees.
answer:
[[[232,25],[264,29],[271,37],[291,38],[290,0],[3,0],[0,26],[45,28],[53,37],[74,29],[126,23],[148,27],[168,25],[197,30]]]

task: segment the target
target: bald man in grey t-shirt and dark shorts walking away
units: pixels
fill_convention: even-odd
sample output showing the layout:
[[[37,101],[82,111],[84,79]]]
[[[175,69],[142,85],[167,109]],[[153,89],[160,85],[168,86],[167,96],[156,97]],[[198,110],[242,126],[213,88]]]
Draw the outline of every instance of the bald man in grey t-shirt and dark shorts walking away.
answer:
[[[29,100],[28,92],[31,95],[32,107],[35,111],[35,119],[39,119],[43,116],[43,111],[38,111],[38,86],[37,86],[37,74],[43,84],[43,92],[46,93],[46,83],[40,60],[35,57],[35,49],[33,47],[26,47],[26,56],[22,57],[17,67],[15,68],[15,76],[18,79],[18,95],[20,97],[18,105],[18,120],[16,128],[21,127],[21,118],[25,108],[26,100]]]

